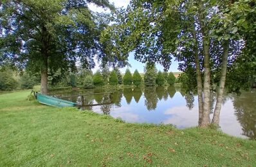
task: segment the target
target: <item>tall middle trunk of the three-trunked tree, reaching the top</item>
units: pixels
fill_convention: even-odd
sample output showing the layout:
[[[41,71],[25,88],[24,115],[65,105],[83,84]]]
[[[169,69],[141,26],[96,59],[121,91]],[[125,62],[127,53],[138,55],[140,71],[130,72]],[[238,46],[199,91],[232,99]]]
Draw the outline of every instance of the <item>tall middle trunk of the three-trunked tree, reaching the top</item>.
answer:
[[[204,15],[204,5],[202,1],[199,1],[199,24],[201,27],[201,33],[203,36],[203,53],[204,53],[204,83],[203,83],[203,117],[201,119],[200,127],[207,127],[210,124],[210,54],[209,45],[210,39],[208,37],[208,30],[206,28],[206,21]]]

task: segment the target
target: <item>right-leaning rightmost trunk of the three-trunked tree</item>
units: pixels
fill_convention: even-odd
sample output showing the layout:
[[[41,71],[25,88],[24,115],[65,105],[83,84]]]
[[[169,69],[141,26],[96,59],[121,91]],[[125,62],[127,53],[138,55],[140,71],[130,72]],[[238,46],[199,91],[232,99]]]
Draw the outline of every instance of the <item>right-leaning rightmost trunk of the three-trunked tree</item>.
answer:
[[[219,125],[219,114],[221,113],[221,103],[223,101],[224,87],[226,82],[226,67],[228,64],[228,49],[229,41],[225,40],[223,44],[223,60],[221,66],[221,80],[219,82],[219,88],[217,89],[217,101],[214,109],[214,118],[212,118],[212,123]]]

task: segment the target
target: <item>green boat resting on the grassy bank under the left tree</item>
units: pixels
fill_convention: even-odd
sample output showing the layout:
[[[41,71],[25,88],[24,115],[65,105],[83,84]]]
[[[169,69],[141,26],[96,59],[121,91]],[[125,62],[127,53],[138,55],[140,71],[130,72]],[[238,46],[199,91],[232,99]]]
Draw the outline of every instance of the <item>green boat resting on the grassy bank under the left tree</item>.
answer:
[[[45,105],[51,105],[54,107],[75,107],[77,105],[77,103],[73,103],[72,101],[54,98],[52,96],[47,96],[39,92],[36,92],[35,94],[39,103]]]

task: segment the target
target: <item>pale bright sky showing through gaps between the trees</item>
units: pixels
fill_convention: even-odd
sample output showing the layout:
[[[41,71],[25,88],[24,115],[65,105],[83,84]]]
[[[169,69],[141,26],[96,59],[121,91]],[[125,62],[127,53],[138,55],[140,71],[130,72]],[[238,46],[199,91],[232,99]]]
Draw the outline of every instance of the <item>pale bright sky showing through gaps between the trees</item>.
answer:
[[[122,8],[122,7],[126,8],[127,5],[129,4],[129,1],[130,0],[109,0],[110,3],[114,3],[114,5],[118,8]],[[93,4],[89,4],[88,6],[91,10],[96,11],[96,12],[108,12],[108,10],[104,10],[103,8],[98,8],[97,6],[95,6]],[[143,73],[145,64],[142,64],[141,62],[134,60],[134,53],[129,54],[128,60],[129,60],[129,64],[131,65],[131,67],[129,67],[129,69],[131,70],[132,73],[135,71],[135,69],[138,69],[139,73]],[[161,66],[160,64],[156,64],[156,68],[158,70],[163,71],[163,66]],[[96,62],[96,66],[93,69],[93,72],[95,72],[98,69],[99,69],[99,66],[98,66],[98,63]],[[126,69],[127,69],[127,67],[120,69],[121,73],[125,73]],[[178,62],[175,62],[174,60],[172,60],[172,65],[170,66],[169,71],[172,71],[172,72],[179,71],[178,70]]]

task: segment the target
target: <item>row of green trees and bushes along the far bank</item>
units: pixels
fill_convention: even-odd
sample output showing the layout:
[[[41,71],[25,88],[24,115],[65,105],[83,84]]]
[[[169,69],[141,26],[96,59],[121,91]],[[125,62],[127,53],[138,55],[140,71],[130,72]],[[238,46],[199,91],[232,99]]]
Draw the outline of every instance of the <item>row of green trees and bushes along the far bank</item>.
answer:
[[[93,73],[90,70],[77,67],[76,71],[61,71],[54,73],[48,71],[48,85],[56,87],[83,87],[86,89],[102,85],[134,85],[139,87],[174,85],[180,79],[175,78],[173,73],[161,72],[155,66],[146,65],[144,73],[140,74],[136,69],[132,74],[129,69],[122,75],[118,68],[112,71],[101,69]],[[0,91],[12,91],[15,89],[33,89],[34,85],[40,85],[40,73],[19,71],[11,67],[0,69]]]

